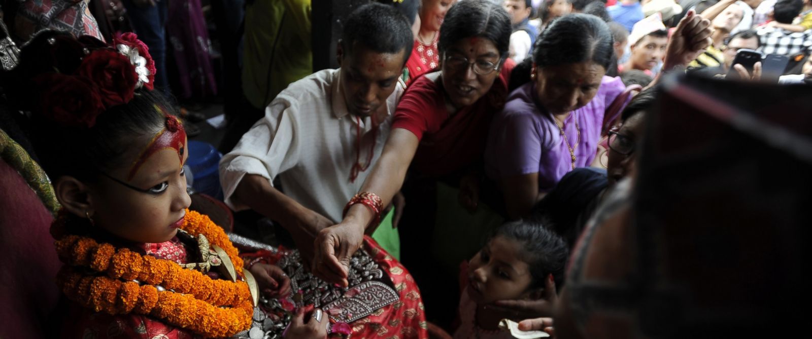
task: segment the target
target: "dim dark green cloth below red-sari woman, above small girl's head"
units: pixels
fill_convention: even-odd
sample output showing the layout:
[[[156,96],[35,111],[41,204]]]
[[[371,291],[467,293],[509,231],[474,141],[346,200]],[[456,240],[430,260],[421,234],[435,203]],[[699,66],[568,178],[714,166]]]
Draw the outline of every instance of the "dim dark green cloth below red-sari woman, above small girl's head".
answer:
[[[482,249],[490,231],[504,222],[499,213],[482,202],[477,212],[469,213],[457,199],[459,192],[458,188],[437,183],[437,216],[431,251],[436,264],[446,272],[457,272],[460,262],[471,259]],[[454,274],[453,278],[456,277]]]

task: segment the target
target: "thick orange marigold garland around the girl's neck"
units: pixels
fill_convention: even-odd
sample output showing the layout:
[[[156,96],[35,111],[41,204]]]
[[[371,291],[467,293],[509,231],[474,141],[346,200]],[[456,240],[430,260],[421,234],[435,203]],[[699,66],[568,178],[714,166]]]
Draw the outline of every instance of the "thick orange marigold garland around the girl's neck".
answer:
[[[69,234],[68,218],[68,213],[61,211],[51,225],[57,254],[66,264],[58,273],[57,283],[81,306],[114,315],[149,315],[205,337],[231,337],[250,327],[253,302],[244,281],[213,280],[171,260]],[[227,234],[209,217],[187,210],[180,229],[194,237],[205,235],[226,251],[235,267],[243,267]],[[88,268],[101,275],[84,274]],[[155,285],[166,290],[158,291]]]

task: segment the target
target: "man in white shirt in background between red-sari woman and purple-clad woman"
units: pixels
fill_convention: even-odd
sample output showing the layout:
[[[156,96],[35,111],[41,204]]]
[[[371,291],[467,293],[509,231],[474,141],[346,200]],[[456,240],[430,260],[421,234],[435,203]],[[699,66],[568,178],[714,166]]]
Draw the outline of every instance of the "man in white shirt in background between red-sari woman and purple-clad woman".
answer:
[[[510,35],[509,58],[516,63],[525,60],[533,53],[533,42],[538,36],[538,29],[529,24],[529,17],[533,14],[531,0],[505,0],[505,10],[511,16],[513,33]]]

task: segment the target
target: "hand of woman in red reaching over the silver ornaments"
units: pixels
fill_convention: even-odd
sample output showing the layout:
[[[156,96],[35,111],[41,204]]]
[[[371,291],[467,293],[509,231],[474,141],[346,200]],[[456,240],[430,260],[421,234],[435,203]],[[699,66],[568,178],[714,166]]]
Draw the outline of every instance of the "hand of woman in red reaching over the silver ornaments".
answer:
[[[348,287],[352,255],[364,241],[364,226],[345,219],[339,225],[321,230],[313,244],[313,274],[330,284]]]

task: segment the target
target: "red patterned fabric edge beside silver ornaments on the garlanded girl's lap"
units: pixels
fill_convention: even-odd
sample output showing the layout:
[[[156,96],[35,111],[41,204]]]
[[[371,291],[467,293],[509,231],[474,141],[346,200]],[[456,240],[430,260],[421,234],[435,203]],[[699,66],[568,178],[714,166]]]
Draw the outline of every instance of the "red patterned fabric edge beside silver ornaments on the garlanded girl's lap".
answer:
[[[412,275],[397,260],[384,251],[377,242],[364,236],[364,249],[375,263],[389,275],[400,301],[383,307],[361,320],[350,324],[352,337],[408,339],[429,337],[420,290]]]

